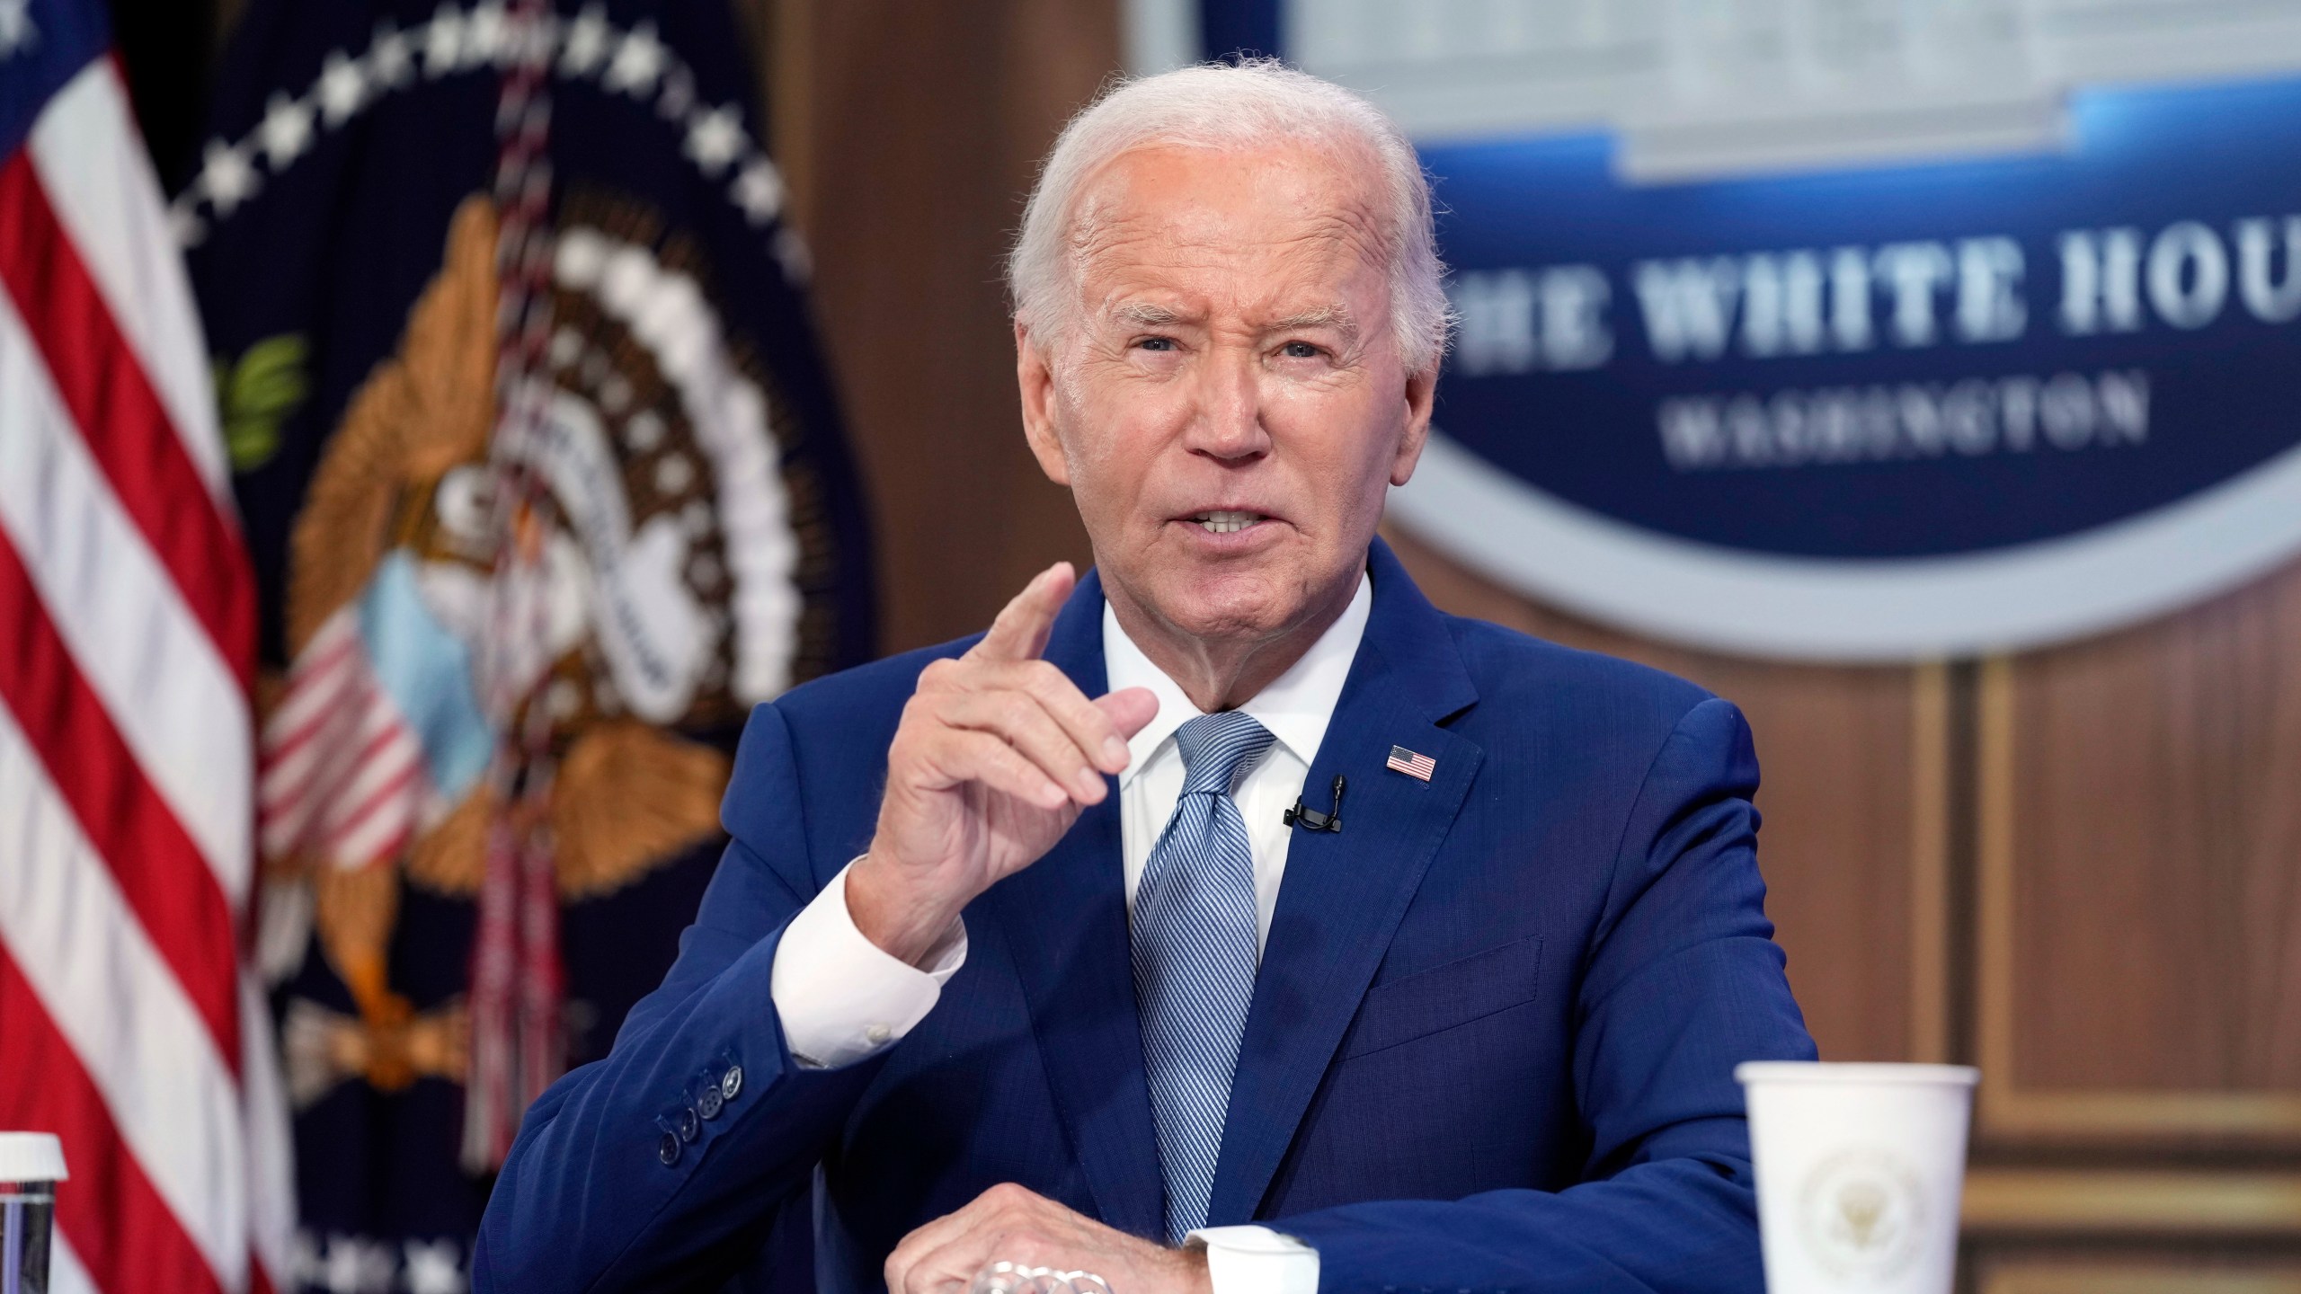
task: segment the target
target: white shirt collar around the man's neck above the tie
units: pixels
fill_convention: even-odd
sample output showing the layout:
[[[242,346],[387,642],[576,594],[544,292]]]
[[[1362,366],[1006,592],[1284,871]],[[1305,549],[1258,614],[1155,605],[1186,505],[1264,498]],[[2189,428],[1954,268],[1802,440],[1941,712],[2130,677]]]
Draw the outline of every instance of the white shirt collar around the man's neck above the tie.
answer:
[[[1325,633],[1309,645],[1309,652],[1300,661],[1238,707],[1268,728],[1305,764],[1318,758],[1318,741],[1325,739],[1325,725],[1335,718],[1335,702],[1341,700],[1341,684],[1351,677],[1351,661],[1358,659],[1358,642],[1367,635],[1367,617],[1371,612],[1374,583],[1367,576],[1358,576],[1358,592],[1351,594],[1351,606],[1335,617],[1335,624],[1325,626]],[[1118,626],[1118,612],[1111,610],[1109,599],[1102,603],[1102,672],[1111,691],[1150,688],[1150,695],[1157,698],[1157,716],[1127,741],[1132,760],[1118,774],[1118,785],[1127,785],[1150,762],[1150,755],[1174,737],[1174,730],[1199,718],[1201,711],[1167,677],[1167,670],[1153,665],[1150,656],[1144,656],[1144,649],[1127,638],[1127,631]]]

